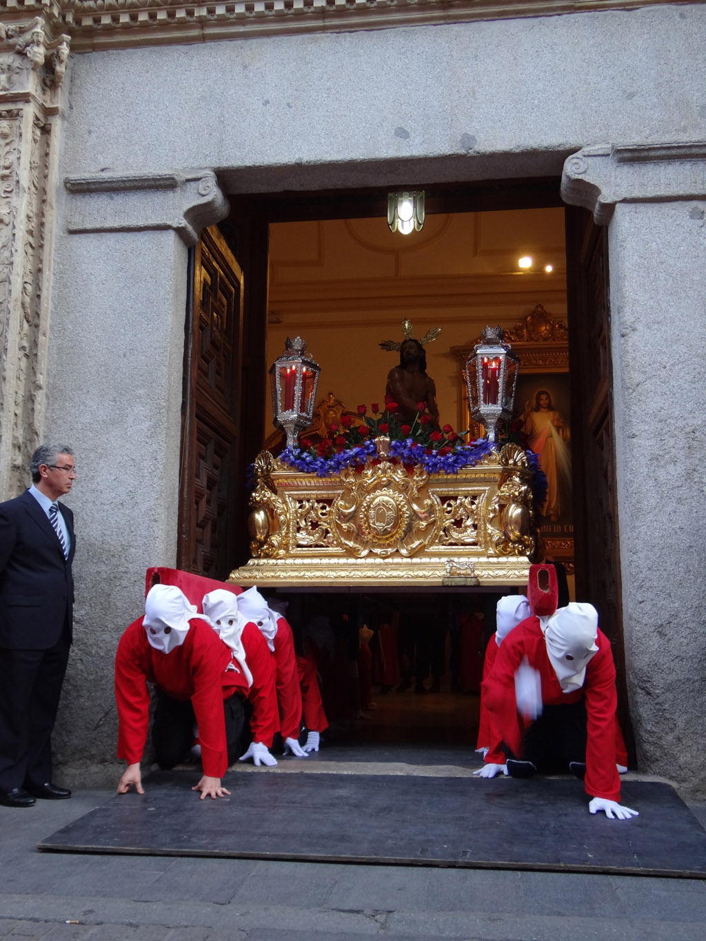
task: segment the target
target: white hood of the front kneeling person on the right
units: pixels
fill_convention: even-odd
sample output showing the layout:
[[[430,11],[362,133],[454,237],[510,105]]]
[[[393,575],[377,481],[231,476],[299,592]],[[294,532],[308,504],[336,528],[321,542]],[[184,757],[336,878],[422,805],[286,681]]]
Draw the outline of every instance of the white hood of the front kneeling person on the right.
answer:
[[[598,612],[592,604],[571,601],[548,619],[547,656],[565,693],[584,685],[586,664],[598,653],[597,638]]]

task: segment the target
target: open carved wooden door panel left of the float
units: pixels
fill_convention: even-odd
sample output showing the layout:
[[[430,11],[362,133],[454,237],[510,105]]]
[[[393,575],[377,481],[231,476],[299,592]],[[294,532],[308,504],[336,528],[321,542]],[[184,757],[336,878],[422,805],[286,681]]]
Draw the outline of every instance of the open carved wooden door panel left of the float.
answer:
[[[233,568],[243,275],[216,226],[201,232],[190,284],[177,565],[222,580]]]

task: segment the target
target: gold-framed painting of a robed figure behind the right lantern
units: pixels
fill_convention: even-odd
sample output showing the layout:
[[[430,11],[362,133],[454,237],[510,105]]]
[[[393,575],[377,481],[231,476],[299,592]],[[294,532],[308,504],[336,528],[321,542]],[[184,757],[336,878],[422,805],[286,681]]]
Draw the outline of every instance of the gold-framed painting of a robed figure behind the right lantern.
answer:
[[[508,423],[512,439],[534,451],[547,475],[547,497],[535,507],[538,531],[546,556],[573,570],[573,509],[571,493],[571,429],[569,337],[566,324],[541,304],[506,329],[505,343],[520,358],[515,407]],[[480,337],[475,341],[480,341]],[[452,352],[465,365],[473,343]],[[464,380],[465,385],[465,380]],[[460,419],[463,427],[479,432],[473,422],[464,389]]]

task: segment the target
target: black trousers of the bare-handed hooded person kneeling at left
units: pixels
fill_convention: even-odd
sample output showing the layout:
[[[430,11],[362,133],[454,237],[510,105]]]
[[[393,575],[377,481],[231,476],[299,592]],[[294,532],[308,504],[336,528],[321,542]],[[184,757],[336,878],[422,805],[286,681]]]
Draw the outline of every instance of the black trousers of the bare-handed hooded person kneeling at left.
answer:
[[[237,693],[223,700],[229,765],[248,748],[250,712],[249,703]],[[195,722],[196,715],[190,699],[172,699],[163,690],[156,691],[152,744],[160,768],[173,768],[185,760],[194,740]]]

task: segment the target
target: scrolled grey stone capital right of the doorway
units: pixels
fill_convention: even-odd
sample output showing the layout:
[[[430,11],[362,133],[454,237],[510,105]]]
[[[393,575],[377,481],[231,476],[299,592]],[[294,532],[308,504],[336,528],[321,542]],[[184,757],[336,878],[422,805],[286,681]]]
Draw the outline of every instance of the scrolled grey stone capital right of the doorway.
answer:
[[[618,202],[703,199],[706,142],[585,147],[564,163],[561,197],[589,209],[600,226]]]

